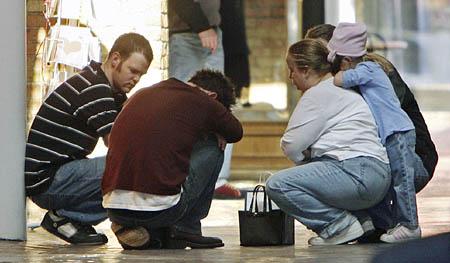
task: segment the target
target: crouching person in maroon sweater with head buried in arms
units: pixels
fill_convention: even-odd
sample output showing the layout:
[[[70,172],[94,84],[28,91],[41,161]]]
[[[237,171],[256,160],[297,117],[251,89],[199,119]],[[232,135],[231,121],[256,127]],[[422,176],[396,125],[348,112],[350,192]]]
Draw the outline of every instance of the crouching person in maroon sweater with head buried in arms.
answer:
[[[223,147],[242,138],[231,82],[211,70],[133,95],[116,119],[102,182],[103,206],[124,249],[213,248],[204,237]],[[222,148],[222,149],[221,149]]]

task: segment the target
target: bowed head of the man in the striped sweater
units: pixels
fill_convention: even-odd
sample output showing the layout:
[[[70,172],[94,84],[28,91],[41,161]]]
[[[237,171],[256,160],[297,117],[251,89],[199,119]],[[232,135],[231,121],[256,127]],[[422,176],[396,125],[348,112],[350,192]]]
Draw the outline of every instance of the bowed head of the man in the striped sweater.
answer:
[[[107,70],[111,84],[125,93],[131,91],[147,73],[153,51],[145,37],[136,33],[121,35],[108,54]]]

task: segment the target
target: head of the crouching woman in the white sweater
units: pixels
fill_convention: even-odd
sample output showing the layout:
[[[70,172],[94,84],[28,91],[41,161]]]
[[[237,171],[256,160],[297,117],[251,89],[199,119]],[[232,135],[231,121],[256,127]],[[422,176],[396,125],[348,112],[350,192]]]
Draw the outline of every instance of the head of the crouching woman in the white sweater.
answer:
[[[289,78],[298,90],[306,91],[330,72],[327,55],[326,46],[317,39],[303,39],[289,47],[286,56]]]

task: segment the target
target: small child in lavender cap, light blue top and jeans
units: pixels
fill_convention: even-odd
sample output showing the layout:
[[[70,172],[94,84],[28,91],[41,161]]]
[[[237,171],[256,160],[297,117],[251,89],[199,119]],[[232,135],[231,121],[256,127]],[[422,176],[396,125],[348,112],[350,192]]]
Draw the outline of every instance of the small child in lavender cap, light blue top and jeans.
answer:
[[[392,172],[392,184],[384,209],[393,210],[396,226],[380,237],[387,243],[402,242],[421,237],[418,223],[417,185],[425,185],[429,174],[415,152],[415,128],[402,110],[394,88],[381,66],[363,61],[366,52],[367,30],[361,23],[340,23],[328,43],[328,61],[335,74],[334,84],[343,88],[359,87],[378,126],[382,144],[386,147]],[[380,207],[377,208],[380,210]]]

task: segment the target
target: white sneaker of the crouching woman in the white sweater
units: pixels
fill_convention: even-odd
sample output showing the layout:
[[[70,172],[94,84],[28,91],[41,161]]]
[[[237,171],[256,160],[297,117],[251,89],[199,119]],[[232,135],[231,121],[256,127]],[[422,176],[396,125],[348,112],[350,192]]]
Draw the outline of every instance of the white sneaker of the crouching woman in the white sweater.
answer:
[[[312,237],[308,240],[308,244],[311,246],[331,246],[331,245],[339,245],[344,244],[353,240],[356,240],[358,237],[364,234],[364,230],[361,224],[358,221],[355,221],[349,227],[344,229],[341,233],[330,237],[330,238],[321,238],[319,236]]]

